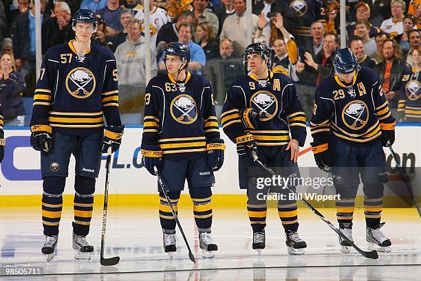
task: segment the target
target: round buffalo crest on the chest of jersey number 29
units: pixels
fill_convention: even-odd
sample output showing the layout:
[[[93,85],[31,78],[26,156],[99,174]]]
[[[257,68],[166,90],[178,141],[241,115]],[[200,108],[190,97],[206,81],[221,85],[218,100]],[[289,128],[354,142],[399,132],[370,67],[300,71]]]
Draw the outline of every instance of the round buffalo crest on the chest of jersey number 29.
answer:
[[[343,123],[352,130],[363,128],[367,124],[368,118],[368,106],[361,100],[353,100],[343,108]]]

